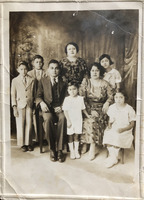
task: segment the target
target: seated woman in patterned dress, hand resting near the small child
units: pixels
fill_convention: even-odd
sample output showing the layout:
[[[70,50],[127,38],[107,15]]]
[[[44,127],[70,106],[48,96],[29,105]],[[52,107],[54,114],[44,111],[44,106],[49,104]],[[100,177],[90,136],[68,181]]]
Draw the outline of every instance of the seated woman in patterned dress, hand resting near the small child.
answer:
[[[81,142],[90,144],[89,159],[95,158],[95,145],[102,145],[103,133],[107,126],[106,112],[113,102],[112,88],[103,80],[103,70],[99,63],[93,63],[90,67],[90,79],[83,79],[80,87],[80,95],[85,97],[87,112],[92,118],[85,119]],[[86,152],[84,145],[81,153]]]

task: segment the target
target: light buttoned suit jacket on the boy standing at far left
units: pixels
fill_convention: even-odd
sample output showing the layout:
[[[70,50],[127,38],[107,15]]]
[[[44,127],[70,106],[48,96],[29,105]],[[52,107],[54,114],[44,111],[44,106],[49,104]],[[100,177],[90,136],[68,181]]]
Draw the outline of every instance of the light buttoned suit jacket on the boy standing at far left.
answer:
[[[27,75],[27,86],[24,85],[21,76],[12,80],[11,102],[12,106],[23,109],[27,106],[33,108],[36,94],[35,80]]]

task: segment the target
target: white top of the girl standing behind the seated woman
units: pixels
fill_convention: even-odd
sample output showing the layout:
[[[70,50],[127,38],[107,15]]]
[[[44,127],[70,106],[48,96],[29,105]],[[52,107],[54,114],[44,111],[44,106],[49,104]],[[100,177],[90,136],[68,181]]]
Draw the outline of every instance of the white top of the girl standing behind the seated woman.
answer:
[[[108,81],[112,88],[115,88],[116,83],[120,83],[122,80],[119,71],[116,69],[106,72],[103,79]]]

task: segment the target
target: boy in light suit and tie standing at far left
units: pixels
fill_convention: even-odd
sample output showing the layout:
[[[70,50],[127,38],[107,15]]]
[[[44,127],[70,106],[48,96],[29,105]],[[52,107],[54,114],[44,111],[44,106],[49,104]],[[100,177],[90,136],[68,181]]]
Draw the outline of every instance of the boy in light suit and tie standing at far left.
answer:
[[[28,63],[22,61],[18,65],[19,75],[12,80],[11,101],[16,117],[17,145],[24,152],[32,151],[31,129],[36,83],[27,75]]]

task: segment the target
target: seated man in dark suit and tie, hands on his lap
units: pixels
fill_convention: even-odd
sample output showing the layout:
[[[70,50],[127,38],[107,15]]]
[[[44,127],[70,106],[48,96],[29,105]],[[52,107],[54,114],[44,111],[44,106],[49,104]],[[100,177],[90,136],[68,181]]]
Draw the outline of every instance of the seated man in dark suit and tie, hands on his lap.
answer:
[[[66,118],[62,103],[67,93],[67,84],[59,76],[60,66],[57,60],[48,64],[47,75],[38,84],[36,105],[40,106],[44,119],[44,130],[50,145],[51,161],[64,161],[63,145],[66,137]],[[57,131],[54,121],[57,120]]]

